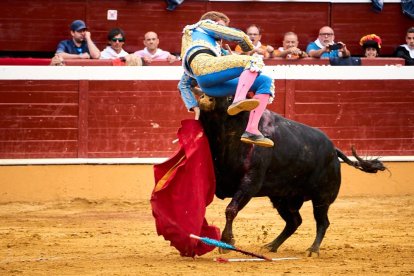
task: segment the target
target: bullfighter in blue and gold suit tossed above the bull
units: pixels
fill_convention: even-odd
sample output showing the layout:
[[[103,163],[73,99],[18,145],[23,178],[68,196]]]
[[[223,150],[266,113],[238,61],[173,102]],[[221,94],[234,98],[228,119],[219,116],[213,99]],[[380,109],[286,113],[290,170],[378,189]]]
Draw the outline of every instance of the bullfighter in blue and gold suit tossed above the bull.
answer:
[[[244,52],[251,51],[253,44],[242,31],[227,27],[230,19],[220,12],[207,12],[196,24],[183,30],[182,61],[184,75],[178,88],[188,110],[199,118],[200,108],[191,92],[195,79],[201,90],[213,97],[235,95],[228,107],[229,115],[250,111],[246,131],[240,140],[244,143],[273,147],[274,142],[258,129],[266,106],[274,97],[273,79],[260,74],[264,63],[257,56],[222,55],[220,39],[234,41]],[[246,99],[247,92],[255,92],[253,99]]]

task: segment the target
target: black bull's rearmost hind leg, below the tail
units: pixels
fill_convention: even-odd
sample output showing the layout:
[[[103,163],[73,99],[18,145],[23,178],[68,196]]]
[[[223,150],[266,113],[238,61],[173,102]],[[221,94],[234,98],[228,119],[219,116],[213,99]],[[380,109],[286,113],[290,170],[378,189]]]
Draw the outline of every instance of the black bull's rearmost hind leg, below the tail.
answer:
[[[319,256],[319,247],[321,246],[326,230],[329,227],[328,210],[330,204],[318,204],[315,201],[313,201],[312,204],[313,216],[316,220],[316,238],[311,247],[306,250],[308,257]]]

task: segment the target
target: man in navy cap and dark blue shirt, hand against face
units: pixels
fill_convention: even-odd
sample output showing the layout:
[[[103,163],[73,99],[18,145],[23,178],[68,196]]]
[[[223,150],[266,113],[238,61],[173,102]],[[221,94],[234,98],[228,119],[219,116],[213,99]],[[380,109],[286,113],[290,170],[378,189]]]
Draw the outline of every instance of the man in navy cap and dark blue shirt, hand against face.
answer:
[[[56,55],[61,59],[97,59],[101,52],[91,39],[91,33],[82,20],[75,20],[70,25],[72,39],[59,43]]]

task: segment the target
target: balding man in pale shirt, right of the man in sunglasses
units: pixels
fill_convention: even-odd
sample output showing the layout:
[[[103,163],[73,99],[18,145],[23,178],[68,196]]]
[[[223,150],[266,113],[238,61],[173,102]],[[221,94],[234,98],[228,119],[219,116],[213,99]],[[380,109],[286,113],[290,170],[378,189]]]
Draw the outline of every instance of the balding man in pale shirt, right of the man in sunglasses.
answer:
[[[144,36],[145,48],[136,51],[134,54],[144,59],[145,63],[150,64],[152,61],[164,60],[170,63],[177,60],[176,56],[170,52],[158,48],[160,40],[158,35],[154,32],[147,32]]]

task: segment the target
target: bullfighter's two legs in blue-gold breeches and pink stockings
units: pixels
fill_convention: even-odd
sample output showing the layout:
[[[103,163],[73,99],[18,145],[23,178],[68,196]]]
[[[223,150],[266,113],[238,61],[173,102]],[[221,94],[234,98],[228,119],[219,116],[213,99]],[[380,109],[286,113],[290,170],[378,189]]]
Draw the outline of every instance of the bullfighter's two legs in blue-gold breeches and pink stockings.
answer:
[[[191,68],[196,80],[204,93],[213,97],[223,97],[234,94],[233,103],[227,109],[230,115],[241,111],[251,111],[248,129],[241,137],[244,143],[263,147],[273,147],[272,140],[265,138],[258,130],[260,118],[270,99],[274,96],[274,81],[269,76],[259,74],[263,61],[251,56],[223,56],[212,58],[199,54]],[[249,89],[255,92],[253,99],[246,100]]]

